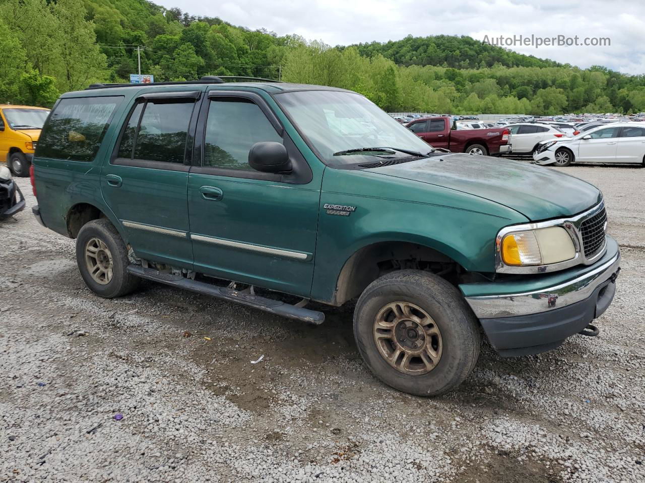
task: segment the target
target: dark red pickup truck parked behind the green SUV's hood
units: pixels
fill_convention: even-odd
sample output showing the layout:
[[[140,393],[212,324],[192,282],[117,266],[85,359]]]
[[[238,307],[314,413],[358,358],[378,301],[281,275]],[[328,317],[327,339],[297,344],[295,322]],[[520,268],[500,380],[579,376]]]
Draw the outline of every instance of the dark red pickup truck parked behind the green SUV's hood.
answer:
[[[415,119],[406,124],[406,128],[432,147],[442,147],[453,153],[499,156],[511,152],[507,128],[458,131],[448,116]]]

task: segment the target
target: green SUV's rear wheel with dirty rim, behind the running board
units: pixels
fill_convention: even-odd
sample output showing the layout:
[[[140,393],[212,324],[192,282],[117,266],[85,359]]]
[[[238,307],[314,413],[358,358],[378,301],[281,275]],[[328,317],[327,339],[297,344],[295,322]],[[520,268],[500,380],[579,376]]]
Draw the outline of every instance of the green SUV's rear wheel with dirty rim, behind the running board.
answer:
[[[110,220],[83,225],[76,238],[76,263],[86,285],[104,298],[129,294],[141,281],[127,272],[128,249]]]

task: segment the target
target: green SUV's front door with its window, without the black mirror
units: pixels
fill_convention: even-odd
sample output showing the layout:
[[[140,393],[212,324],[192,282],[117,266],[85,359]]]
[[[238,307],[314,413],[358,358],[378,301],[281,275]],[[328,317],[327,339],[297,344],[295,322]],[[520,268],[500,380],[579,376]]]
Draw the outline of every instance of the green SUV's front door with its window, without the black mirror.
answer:
[[[313,276],[321,180],[257,94],[210,91],[204,99],[188,178],[195,270],[308,297]],[[248,164],[256,142],[282,142],[287,175]],[[195,163],[200,164],[200,163]]]

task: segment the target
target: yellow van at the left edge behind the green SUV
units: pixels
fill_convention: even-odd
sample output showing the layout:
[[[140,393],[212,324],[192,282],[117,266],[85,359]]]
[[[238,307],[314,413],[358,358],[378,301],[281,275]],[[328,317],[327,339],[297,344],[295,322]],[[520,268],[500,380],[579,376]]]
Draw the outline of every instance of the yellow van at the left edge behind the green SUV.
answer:
[[[0,104],[0,160],[14,176],[29,176],[34,151],[49,109]]]

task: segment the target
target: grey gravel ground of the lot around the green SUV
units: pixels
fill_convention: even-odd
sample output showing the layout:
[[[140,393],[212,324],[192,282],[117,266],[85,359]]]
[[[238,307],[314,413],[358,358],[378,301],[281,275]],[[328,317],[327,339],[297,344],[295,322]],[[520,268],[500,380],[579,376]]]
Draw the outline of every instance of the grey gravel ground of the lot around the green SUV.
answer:
[[[313,328],[155,283],[99,299],[27,207],[0,222],[0,481],[644,482],[645,169],[562,171],[622,245],[600,336],[484,345],[437,399],[366,370],[350,308]]]

